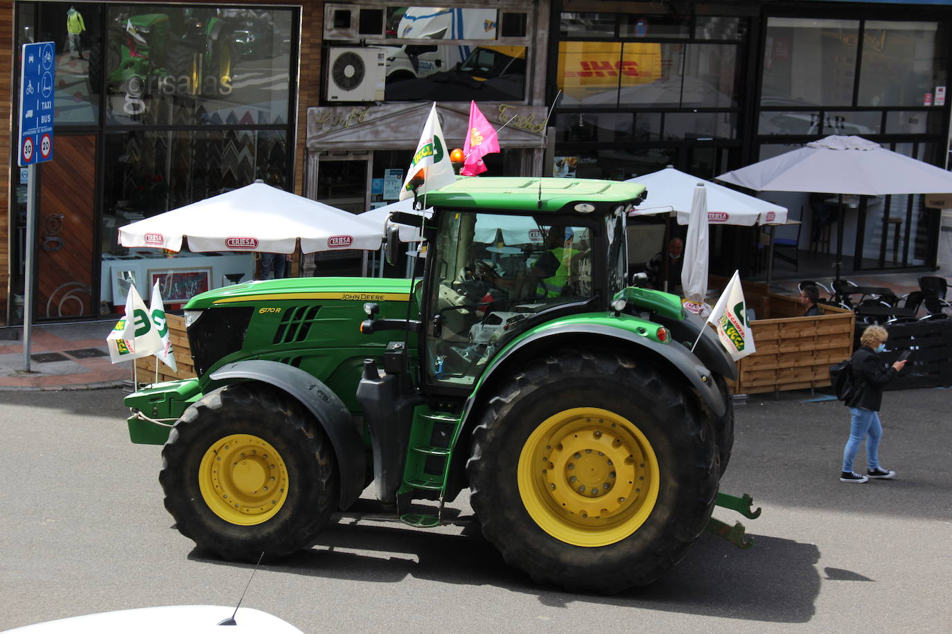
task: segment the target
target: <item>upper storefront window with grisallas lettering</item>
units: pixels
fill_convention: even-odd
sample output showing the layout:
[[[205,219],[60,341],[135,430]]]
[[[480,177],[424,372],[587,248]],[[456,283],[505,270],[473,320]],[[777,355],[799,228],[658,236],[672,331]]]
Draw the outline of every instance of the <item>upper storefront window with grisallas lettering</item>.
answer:
[[[288,123],[290,10],[109,6],[109,124]]]

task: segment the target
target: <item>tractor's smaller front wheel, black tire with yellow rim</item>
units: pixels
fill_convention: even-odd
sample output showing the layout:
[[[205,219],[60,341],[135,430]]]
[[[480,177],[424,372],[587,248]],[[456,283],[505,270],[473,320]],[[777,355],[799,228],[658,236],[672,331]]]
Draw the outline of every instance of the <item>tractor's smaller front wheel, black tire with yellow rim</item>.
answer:
[[[175,423],[159,482],[179,531],[229,561],[273,561],[317,539],[338,506],[339,474],[320,425],[294,398],[241,383]]]

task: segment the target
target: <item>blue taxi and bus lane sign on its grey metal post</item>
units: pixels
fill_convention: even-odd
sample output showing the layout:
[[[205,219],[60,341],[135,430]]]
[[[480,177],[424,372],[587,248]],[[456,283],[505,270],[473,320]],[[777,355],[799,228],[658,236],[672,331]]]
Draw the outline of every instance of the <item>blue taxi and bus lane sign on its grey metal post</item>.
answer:
[[[33,320],[33,248],[36,216],[36,163],[53,158],[53,79],[56,47],[52,42],[23,45],[20,64],[20,137],[17,163],[28,169],[27,239],[24,245],[23,370],[30,372]]]

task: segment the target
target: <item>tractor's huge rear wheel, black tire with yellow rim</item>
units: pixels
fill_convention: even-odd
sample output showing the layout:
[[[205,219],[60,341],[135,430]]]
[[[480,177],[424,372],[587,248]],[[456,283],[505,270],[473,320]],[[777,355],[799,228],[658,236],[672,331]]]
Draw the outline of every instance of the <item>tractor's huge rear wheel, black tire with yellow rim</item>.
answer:
[[[466,471],[486,539],[569,590],[657,579],[704,530],[718,490],[713,434],[685,388],[605,350],[535,359],[501,385]]]

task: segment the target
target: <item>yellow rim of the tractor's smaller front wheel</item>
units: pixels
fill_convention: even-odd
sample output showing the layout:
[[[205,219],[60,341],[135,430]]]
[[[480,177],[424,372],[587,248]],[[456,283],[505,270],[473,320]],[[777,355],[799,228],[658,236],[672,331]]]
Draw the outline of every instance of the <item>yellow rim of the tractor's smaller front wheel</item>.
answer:
[[[230,524],[253,526],[274,517],[288,499],[288,468],[265,440],[234,433],[205,452],[198,486],[215,515]]]

